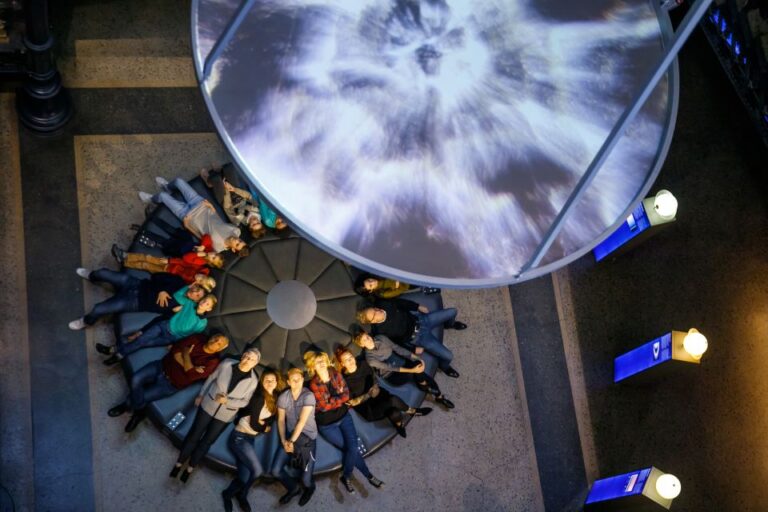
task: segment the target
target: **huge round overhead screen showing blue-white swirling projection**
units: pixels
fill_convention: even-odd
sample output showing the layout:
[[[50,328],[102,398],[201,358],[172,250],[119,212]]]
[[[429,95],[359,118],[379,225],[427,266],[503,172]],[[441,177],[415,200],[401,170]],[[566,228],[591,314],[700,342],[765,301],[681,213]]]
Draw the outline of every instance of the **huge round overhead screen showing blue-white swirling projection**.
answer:
[[[521,274],[631,98],[669,19],[648,0],[195,0],[203,96],[238,166],[305,236],[409,282],[549,272],[647,192],[663,79]]]

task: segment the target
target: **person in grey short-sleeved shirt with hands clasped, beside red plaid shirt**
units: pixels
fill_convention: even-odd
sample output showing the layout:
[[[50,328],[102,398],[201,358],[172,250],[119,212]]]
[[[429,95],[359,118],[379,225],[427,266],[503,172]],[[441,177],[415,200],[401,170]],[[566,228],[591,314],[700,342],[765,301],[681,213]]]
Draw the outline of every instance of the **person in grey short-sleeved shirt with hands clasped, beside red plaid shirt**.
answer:
[[[272,462],[272,475],[287,491],[280,497],[281,505],[301,494],[299,506],[303,507],[315,492],[316,402],[315,395],[304,387],[304,372],[300,368],[288,370],[288,389],[277,397],[280,448]]]

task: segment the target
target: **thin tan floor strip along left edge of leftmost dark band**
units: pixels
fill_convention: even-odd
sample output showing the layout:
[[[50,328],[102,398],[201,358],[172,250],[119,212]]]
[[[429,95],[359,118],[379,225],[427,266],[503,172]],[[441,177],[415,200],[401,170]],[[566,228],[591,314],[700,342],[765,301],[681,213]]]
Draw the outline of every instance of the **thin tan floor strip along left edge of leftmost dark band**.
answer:
[[[11,104],[15,103],[15,95],[12,93],[9,94],[0,94],[0,103],[4,102],[10,102]],[[10,185],[10,189],[13,190],[13,193],[11,194],[11,197],[15,198],[14,204],[12,206],[11,211],[14,212],[14,227],[16,230],[15,233],[15,239],[21,240],[22,243],[18,246],[18,250],[15,252],[15,257],[17,259],[16,261],[16,267],[19,269],[19,272],[14,276],[14,292],[18,298],[19,306],[19,314],[21,315],[21,321],[19,323],[19,335],[22,340],[22,347],[20,350],[21,354],[21,360],[19,363],[21,363],[25,368],[25,374],[26,374],[26,384],[24,386],[25,391],[24,395],[26,395],[27,400],[24,402],[25,404],[28,404],[28,411],[24,413],[24,417],[28,420],[25,421],[27,430],[29,432],[32,431],[32,407],[31,407],[31,396],[32,396],[32,385],[31,385],[31,367],[30,367],[30,360],[31,360],[31,354],[30,354],[30,346],[29,346],[29,316],[28,316],[28,302],[27,302],[27,265],[26,265],[26,253],[25,253],[25,244],[23,241],[25,240],[24,237],[24,214],[23,214],[23,190],[21,186],[21,154],[20,154],[20,147],[19,147],[19,125],[17,118],[14,116],[11,116],[10,118],[10,130],[9,135],[11,137],[10,139],[10,179],[6,182]],[[32,437],[34,439],[34,437]],[[33,461],[34,464],[34,446],[30,446],[29,450],[30,456],[29,460]],[[34,468],[32,468],[31,476],[34,475]],[[34,510],[34,503],[35,503],[35,492],[34,492],[34,481],[30,482],[30,484],[33,486],[31,489],[31,492],[28,493],[29,498],[29,505],[32,510]]]

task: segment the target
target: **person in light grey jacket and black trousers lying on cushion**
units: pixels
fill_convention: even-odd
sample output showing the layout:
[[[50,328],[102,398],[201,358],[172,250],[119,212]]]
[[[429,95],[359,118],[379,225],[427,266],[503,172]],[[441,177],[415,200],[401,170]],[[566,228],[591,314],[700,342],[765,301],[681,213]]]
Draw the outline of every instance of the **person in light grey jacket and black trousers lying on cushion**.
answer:
[[[257,348],[248,348],[240,361],[222,361],[208,376],[195,398],[195,405],[198,406],[195,419],[181,445],[181,452],[169,475],[171,478],[176,478],[184,464],[188,463],[180,478],[186,483],[227,424],[248,405],[259,384],[255,368],[260,360],[261,352]]]

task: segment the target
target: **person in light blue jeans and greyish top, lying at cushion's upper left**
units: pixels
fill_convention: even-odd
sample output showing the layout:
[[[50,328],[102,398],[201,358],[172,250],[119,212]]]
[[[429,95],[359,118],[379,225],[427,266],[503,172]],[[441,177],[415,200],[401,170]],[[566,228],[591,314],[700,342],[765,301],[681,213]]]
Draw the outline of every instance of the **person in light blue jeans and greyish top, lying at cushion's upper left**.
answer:
[[[232,251],[241,257],[248,255],[248,247],[240,239],[240,228],[225,222],[216,212],[216,208],[198,194],[189,183],[176,178],[168,183],[164,178],[155,178],[161,191],[154,196],[139,192],[139,198],[145,203],[162,203],[173,213],[184,227],[198,239],[208,234],[213,250],[216,252]],[[182,201],[171,195],[171,189],[181,192]]]

